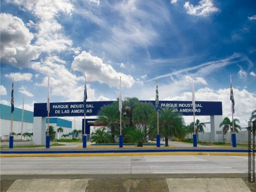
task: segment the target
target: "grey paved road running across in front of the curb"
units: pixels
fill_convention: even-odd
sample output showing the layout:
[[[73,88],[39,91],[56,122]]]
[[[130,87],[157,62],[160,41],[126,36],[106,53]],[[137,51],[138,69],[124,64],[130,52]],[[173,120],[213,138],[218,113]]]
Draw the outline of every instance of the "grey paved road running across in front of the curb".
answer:
[[[4,157],[1,174],[247,173],[247,156]]]

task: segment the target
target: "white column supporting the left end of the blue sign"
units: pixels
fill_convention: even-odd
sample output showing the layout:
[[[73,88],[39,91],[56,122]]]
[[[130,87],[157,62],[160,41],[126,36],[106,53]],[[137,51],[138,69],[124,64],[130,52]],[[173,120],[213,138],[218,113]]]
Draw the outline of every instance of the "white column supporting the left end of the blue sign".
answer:
[[[45,145],[46,117],[34,117],[34,135],[35,145]]]

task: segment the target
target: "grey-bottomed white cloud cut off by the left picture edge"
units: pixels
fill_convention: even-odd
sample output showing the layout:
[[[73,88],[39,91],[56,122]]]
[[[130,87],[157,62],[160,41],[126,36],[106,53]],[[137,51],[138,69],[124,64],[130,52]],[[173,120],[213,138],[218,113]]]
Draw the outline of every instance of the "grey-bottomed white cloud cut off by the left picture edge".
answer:
[[[34,35],[23,21],[8,13],[1,13],[1,61],[18,68],[28,67],[30,60],[37,59],[41,51],[31,45]]]

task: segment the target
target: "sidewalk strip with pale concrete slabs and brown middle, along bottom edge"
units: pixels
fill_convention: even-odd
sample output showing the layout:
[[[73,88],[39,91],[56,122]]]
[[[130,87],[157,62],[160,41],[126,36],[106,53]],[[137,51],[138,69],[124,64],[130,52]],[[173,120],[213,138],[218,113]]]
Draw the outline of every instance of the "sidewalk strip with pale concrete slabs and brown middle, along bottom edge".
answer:
[[[251,191],[241,178],[18,179],[9,192],[29,191]]]

